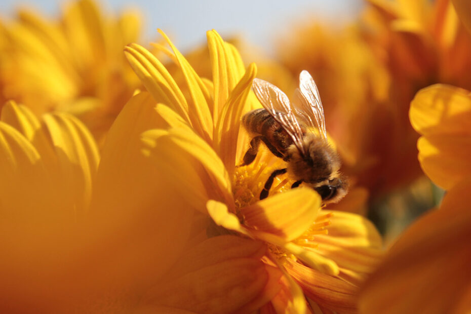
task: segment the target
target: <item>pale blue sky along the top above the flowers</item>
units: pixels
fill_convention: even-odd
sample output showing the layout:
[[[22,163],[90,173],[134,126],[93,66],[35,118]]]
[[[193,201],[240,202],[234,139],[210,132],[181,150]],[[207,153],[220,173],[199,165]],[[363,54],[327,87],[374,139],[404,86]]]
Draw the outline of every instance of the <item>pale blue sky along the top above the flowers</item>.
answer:
[[[61,0],[1,0],[0,16],[14,15],[18,6],[32,6],[47,15],[60,10]],[[341,23],[361,10],[360,0],[107,0],[101,7],[112,12],[135,8],[144,17],[145,34],[155,38],[155,29],[171,35],[182,51],[206,40],[206,31],[216,29],[223,37],[239,34],[265,50],[278,36],[287,36],[289,29],[312,19]]]

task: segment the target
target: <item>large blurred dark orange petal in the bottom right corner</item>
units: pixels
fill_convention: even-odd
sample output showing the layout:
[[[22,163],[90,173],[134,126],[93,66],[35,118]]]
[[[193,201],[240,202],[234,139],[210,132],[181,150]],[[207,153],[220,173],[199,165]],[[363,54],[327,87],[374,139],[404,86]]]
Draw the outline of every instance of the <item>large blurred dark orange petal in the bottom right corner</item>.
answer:
[[[458,313],[469,304],[469,180],[450,189],[439,210],[414,222],[366,282],[362,313]],[[385,289],[387,287],[387,289]],[[466,300],[467,298],[467,300]],[[469,309],[469,308],[467,308]]]

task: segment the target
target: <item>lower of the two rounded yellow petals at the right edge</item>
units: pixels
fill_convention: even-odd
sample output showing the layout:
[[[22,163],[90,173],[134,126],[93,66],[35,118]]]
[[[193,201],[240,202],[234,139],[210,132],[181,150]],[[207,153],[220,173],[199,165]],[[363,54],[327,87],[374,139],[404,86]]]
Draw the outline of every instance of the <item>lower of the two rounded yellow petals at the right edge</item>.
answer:
[[[419,138],[417,147],[423,172],[440,187],[450,189],[471,175],[469,135],[429,135]]]

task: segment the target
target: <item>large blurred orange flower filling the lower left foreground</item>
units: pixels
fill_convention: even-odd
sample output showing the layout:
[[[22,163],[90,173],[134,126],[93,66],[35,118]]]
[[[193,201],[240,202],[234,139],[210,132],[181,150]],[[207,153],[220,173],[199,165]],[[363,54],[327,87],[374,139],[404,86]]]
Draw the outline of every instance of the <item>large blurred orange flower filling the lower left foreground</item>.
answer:
[[[133,97],[101,157],[73,116],[38,120],[25,106],[4,106],[0,311],[162,312],[186,304],[210,313],[266,302],[268,278],[281,275],[265,270],[263,243],[202,237],[203,215],[141,153],[141,133],[163,123],[154,104],[147,93]],[[149,291],[151,309],[139,305]]]

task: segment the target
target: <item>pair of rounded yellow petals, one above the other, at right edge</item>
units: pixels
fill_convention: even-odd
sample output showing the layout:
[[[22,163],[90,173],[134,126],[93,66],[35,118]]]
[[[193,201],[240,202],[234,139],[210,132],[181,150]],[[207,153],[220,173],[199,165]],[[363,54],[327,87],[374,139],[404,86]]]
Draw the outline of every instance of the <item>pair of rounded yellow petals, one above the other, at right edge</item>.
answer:
[[[440,84],[427,87],[411,102],[410,119],[423,135],[417,142],[419,161],[431,180],[449,189],[461,178],[469,177],[469,91]]]

